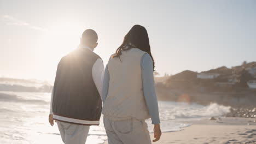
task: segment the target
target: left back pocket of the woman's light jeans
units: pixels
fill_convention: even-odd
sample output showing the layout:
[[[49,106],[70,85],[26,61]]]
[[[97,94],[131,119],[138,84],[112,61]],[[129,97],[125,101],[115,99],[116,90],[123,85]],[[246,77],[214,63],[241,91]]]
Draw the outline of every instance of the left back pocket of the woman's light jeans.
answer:
[[[130,134],[133,130],[132,118],[123,121],[114,121],[114,129],[121,134]]]

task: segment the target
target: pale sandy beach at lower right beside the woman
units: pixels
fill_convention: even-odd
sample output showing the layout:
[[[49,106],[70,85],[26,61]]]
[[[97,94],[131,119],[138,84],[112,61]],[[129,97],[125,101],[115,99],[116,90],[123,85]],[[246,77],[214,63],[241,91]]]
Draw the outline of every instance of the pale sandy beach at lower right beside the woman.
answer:
[[[255,120],[219,117],[215,121],[185,121],[193,125],[181,131],[162,133],[160,141],[153,143],[256,143]],[[150,134],[150,137],[153,139],[153,134]]]

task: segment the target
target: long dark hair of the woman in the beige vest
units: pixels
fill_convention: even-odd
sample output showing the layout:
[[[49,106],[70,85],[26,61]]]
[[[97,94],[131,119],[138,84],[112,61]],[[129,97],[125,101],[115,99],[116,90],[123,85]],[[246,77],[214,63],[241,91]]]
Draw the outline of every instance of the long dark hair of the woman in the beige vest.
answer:
[[[132,46],[126,47],[129,45],[129,43],[131,43]],[[146,51],[149,54],[153,61],[153,70],[155,70],[155,61],[150,50],[148,32],[146,28],[140,25],[133,26],[131,30],[125,35],[123,44],[118,47],[118,49],[115,51],[115,55],[113,55],[112,58],[120,58],[122,51],[130,50],[133,47],[136,47],[142,51]]]

